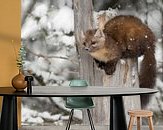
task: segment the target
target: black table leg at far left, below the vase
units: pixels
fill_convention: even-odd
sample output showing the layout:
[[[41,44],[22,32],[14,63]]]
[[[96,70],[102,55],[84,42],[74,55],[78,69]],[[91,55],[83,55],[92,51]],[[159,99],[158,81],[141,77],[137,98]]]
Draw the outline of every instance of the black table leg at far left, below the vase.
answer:
[[[3,97],[0,130],[18,130],[16,96]]]

